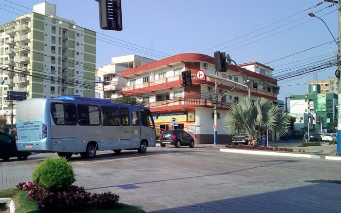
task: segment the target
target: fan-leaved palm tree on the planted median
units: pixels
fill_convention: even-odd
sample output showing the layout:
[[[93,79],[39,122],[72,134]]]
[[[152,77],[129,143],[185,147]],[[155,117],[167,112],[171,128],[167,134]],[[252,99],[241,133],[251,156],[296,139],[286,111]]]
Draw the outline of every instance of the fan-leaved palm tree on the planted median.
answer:
[[[250,145],[257,146],[257,138],[266,129],[276,137],[284,136],[289,131],[290,118],[285,113],[279,113],[279,109],[279,106],[269,103],[264,97],[255,101],[243,97],[227,111],[224,129],[230,135],[245,132]]]

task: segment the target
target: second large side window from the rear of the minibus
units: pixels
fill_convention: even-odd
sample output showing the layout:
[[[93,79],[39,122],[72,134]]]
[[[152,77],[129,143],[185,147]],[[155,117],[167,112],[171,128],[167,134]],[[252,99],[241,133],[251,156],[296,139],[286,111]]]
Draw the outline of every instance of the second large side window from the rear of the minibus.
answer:
[[[78,104],[77,116],[79,125],[99,125],[98,106]]]

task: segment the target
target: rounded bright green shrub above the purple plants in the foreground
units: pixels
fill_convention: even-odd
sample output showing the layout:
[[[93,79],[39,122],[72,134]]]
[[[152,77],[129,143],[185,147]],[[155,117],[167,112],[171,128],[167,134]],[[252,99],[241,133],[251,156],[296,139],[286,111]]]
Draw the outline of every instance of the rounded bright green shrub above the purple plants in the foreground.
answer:
[[[48,189],[67,187],[75,180],[73,168],[65,158],[46,158],[33,172],[33,181]]]

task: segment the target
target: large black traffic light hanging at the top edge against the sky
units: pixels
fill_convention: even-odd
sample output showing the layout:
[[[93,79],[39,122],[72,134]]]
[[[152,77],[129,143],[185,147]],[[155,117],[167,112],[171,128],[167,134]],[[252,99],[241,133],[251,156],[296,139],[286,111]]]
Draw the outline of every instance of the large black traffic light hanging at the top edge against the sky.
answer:
[[[122,30],[121,0],[96,0],[99,4],[99,25],[102,30]]]

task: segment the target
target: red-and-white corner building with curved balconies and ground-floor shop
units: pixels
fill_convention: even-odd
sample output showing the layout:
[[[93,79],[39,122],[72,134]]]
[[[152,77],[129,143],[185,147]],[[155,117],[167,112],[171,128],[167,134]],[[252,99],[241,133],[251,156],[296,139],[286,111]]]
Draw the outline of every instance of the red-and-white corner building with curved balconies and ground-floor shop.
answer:
[[[227,68],[226,73],[219,72],[218,75],[239,83],[244,81],[236,66]],[[187,70],[191,71],[193,86],[183,87],[181,72]],[[208,76],[198,79],[195,76],[198,70],[214,74],[214,58],[188,53],[154,61],[122,71],[122,76],[128,78],[122,93],[144,101],[152,112],[157,113],[154,120],[158,131],[184,129],[194,136],[197,144],[213,143],[215,79]],[[279,86],[276,79],[243,68],[241,70],[252,86],[252,99],[265,97],[271,103],[277,100]],[[248,91],[236,83],[218,83],[218,143],[226,143],[231,138],[223,129],[223,118],[231,103],[247,96]],[[270,92],[267,87],[270,87]]]

